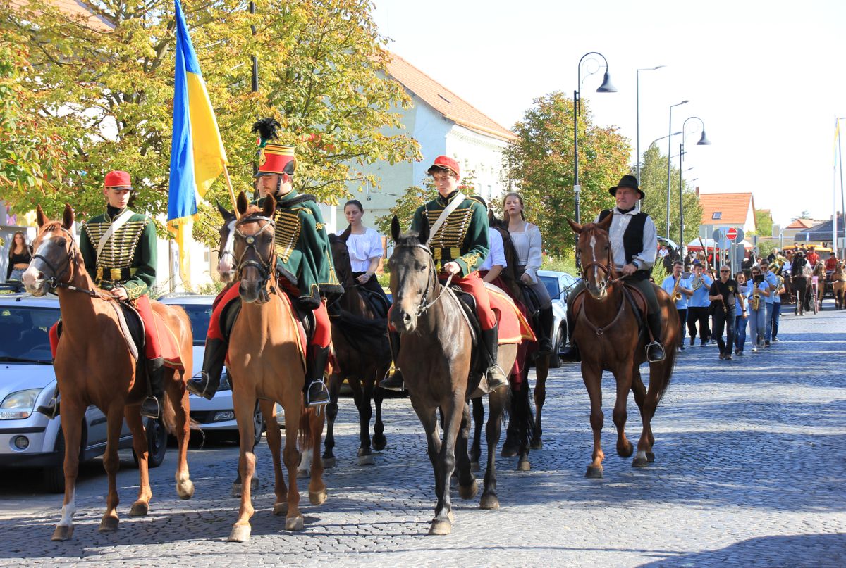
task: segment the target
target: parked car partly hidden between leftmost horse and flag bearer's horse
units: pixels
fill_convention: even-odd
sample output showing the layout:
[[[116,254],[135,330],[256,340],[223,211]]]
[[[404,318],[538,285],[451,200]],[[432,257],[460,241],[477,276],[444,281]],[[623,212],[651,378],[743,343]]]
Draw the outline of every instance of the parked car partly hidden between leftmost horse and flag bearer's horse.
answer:
[[[211,303],[214,296],[192,293],[172,293],[158,298],[161,303],[171,306],[181,306],[191,320],[191,331],[194,334],[194,369],[191,376],[199,374],[203,367],[203,353],[206,347],[206,333],[211,319]],[[191,418],[200,424],[206,434],[217,434],[227,440],[238,440],[238,423],[235,422],[235,411],[232,402],[232,385],[226,369],[220,381],[220,388],[211,401],[202,396],[190,396]],[[261,441],[261,433],[265,429],[264,417],[258,403],[253,411],[255,421],[255,443]]]

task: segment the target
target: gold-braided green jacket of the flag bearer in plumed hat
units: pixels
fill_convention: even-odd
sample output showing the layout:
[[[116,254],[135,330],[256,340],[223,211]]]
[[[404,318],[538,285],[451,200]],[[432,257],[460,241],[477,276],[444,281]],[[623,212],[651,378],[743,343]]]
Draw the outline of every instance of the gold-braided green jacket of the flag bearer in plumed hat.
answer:
[[[315,197],[295,190],[278,197],[274,221],[277,271],[294,287],[299,306],[315,309],[321,296],[343,294]]]

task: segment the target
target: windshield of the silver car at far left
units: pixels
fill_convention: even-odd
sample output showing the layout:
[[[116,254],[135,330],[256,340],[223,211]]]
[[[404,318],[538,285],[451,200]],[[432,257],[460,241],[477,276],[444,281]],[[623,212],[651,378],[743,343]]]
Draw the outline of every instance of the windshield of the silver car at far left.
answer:
[[[51,363],[47,332],[58,316],[58,307],[0,307],[0,361]]]

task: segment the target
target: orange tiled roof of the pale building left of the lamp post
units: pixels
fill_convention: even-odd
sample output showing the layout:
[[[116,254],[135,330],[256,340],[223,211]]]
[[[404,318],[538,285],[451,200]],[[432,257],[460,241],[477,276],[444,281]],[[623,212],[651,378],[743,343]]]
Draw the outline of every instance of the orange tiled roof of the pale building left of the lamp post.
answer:
[[[453,91],[448,90],[396,53],[391,53],[391,62],[387,64],[387,73],[453,123],[503,140],[517,138],[508,128],[503,127],[484,112],[464,101]]]

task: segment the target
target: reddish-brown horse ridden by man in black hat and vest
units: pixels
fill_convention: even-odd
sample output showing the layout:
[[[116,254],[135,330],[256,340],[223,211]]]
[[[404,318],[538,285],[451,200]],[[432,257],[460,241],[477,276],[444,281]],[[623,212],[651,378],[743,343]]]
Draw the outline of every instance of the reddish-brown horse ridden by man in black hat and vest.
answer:
[[[629,390],[634,390],[634,401],[640,408],[643,430],[632,466],[646,467],[655,459],[651,421],[658,402],[670,384],[678,345],[683,340],[679,335],[678,311],[673,300],[667,292],[656,287],[666,356],[660,362],[650,363],[649,390],[646,390],[640,379],[640,363],[646,360],[646,336],[638,324],[640,316],[633,306],[637,301],[631,301],[634,299],[633,295],[629,296],[632,292],[624,290],[624,280],[618,277],[614,268],[608,237],[612,217],[609,215],[598,223],[585,225],[567,220],[579,235],[576,246],[581,255],[582,277],[586,284],[585,291],[571,300],[574,302],[573,314],[576,318],[573,338],[581,347],[582,379],[591,398],[593,461],[587,468],[586,478],[602,478],[602,460],[605,458],[601,444],[604,421],[602,370],[610,370],[617,381],[613,419],[617,426],[617,453],[621,457],[629,457],[633,453],[632,444],[626,439],[625,423]]]

